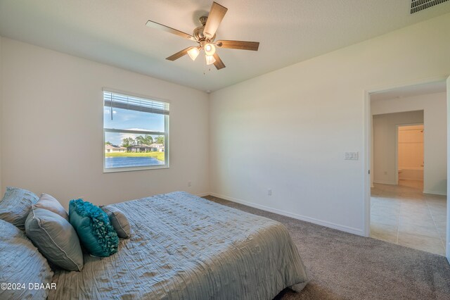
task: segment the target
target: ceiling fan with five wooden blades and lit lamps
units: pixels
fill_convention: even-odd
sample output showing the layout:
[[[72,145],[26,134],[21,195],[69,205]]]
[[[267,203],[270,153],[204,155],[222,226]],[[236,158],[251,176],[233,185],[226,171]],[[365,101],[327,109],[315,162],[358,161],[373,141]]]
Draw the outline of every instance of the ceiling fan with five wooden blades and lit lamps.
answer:
[[[221,61],[219,55],[216,52],[216,47],[229,48],[229,49],[241,49],[241,50],[252,50],[257,51],[259,47],[259,42],[244,42],[244,41],[216,41],[216,31],[219,27],[224,15],[228,11],[228,8],[212,2],[210,9],[210,14],[207,16],[200,17],[200,27],[197,27],[193,31],[193,35],[188,35],[186,32],[176,30],[172,27],[156,23],[152,20],[148,20],[147,26],[153,27],[159,30],[164,30],[179,37],[184,37],[186,39],[191,39],[193,42],[197,42],[198,46],[190,46],[183,49],[172,56],[167,57],[169,61],[175,61],[176,59],[188,54],[193,61],[200,54],[201,50],[205,51],[205,61],[207,65],[214,63],[217,70],[225,68],[224,63]]]

